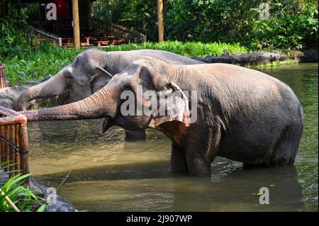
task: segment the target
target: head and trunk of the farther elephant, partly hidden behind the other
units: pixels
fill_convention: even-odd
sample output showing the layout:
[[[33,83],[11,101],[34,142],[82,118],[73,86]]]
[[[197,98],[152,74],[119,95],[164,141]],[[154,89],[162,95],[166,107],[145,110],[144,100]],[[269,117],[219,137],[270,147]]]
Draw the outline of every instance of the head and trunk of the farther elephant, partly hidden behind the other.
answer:
[[[90,96],[111,79],[106,72],[107,52],[86,50],[51,79],[30,87],[16,101],[16,111],[25,111],[35,98],[62,96],[63,103],[72,103]]]

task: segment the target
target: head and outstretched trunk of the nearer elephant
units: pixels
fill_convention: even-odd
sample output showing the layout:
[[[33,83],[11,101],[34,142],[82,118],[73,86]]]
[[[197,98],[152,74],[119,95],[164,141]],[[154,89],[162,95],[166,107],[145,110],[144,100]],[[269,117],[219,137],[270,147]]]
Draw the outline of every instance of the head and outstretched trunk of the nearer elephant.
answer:
[[[103,122],[103,132],[112,125],[119,125],[125,130],[143,130],[147,126],[156,128],[173,120],[188,125],[189,100],[174,83],[177,73],[174,65],[145,57],[131,63],[123,72],[116,74],[106,86],[82,101],[22,113],[28,120],[106,118]],[[141,95],[140,89],[144,95]],[[174,95],[176,93],[177,95]],[[169,98],[161,98],[172,95],[172,103],[167,103]],[[133,101],[130,97],[133,97]],[[142,112],[138,112],[138,108],[143,109]],[[159,111],[162,113],[159,114]]]

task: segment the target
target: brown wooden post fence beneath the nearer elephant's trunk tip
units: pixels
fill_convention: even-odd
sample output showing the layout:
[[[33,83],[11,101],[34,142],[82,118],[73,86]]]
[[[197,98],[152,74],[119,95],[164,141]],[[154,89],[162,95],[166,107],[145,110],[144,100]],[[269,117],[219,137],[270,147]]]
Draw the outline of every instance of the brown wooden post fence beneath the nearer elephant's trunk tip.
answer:
[[[27,118],[0,106],[0,164],[12,164],[5,171],[10,176],[28,174],[28,129]]]

